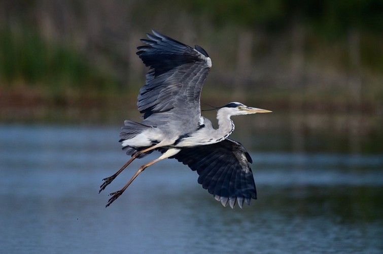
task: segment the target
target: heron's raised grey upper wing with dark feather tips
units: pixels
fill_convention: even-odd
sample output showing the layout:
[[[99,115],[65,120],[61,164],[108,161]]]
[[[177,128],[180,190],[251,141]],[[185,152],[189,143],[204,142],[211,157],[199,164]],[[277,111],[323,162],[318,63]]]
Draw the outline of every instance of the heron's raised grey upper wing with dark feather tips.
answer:
[[[147,34],[150,40],[141,40],[147,45],[137,48],[137,55],[150,67],[138,95],[138,110],[145,119],[161,114],[169,121],[197,124],[200,93],[212,61],[199,46],[193,49],[152,32]]]

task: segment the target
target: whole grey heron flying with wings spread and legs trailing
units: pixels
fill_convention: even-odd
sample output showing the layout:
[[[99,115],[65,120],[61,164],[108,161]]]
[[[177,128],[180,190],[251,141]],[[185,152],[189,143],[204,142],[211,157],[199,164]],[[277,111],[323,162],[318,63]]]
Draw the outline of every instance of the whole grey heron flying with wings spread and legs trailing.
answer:
[[[201,115],[200,94],[203,82],[212,67],[206,51],[193,49],[181,42],[152,30],[145,46],[138,47],[137,55],[149,67],[146,83],[138,94],[141,122],[125,120],[120,142],[130,160],[114,175],[103,179],[99,192],[105,189],[135,158],[157,150],[162,153],[154,161],[138,169],[128,183],[112,196],[111,205],[147,167],[175,158],[197,171],[198,183],[222,205],[242,208],[257,199],[252,158],[239,142],[228,139],[234,131],[230,119],[234,115],[267,113],[269,110],[252,108],[238,102],[217,108],[218,129]]]

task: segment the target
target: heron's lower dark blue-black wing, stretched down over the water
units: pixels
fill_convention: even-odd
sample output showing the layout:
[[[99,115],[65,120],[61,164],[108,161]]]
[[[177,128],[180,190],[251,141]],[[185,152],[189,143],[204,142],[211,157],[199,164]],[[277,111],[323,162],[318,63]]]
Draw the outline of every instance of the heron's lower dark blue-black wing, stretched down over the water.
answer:
[[[251,199],[257,199],[249,165],[252,159],[245,147],[234,140],[184,148],[170,158],[176,158],[197,171],[198,183],[224,206],[230,204],[233,208],[237,200],[242,208],[243,201],[250,205]]]

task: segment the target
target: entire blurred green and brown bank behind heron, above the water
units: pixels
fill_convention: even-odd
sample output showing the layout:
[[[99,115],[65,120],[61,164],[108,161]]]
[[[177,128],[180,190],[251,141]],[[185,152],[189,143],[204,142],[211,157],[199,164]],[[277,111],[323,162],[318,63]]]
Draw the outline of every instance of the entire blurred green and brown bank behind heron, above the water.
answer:
[[[136,47],[156,29],[212,57],[202,102],[381,112],[381,1],[9,0],[0,9],[3,109],[134,109],[146,72]]]

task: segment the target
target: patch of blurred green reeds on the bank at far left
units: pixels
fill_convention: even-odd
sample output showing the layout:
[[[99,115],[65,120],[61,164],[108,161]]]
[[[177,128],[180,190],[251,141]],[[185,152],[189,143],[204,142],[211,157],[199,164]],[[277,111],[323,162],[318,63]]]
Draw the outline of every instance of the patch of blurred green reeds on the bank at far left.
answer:
[[[0,30],[0,73],[7,88],[20,84],[65,90],[115,91],[116,80],[89,63],[76,49],[46,42],[35,31]]]

